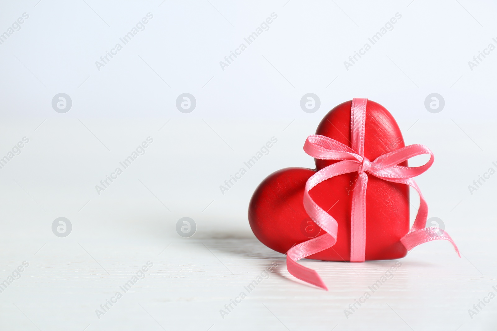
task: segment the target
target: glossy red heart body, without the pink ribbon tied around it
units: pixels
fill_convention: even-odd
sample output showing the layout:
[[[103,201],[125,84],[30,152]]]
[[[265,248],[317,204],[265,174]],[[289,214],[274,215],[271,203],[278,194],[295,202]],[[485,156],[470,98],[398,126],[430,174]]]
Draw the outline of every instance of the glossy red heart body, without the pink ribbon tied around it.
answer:
[[[333,108],[316,134],[349,147],[352,101]],[[364,156],[373,161],[404,147],[402,133],[392,115],[380,104],[367,101]],[[248,207],[253,233],[264,245],[286,253],[292,246],[325,234],[307,215],[303,205],[306,181],[320,169],[338,162],[315,159],[316,169],[285,168],[269,175],[255,190]],[[407,166],[408,162],[400,165]],[[314,201],[338,223],[334,246],[308,259],[350,261],[350,212],[357,173],[330,178],[310,191]],[[409,231],[409,187],[368,175],[366,191],[366,260],[403,258],[400,239]]]

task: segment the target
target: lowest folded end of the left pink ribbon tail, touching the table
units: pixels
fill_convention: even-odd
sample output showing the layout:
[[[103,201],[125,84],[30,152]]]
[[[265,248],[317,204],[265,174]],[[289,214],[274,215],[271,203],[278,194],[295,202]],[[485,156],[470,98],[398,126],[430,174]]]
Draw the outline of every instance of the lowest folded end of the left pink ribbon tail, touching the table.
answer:
[[[286,255],[286,268],[288,272],[300,280],[328,291],[328,287],[316,270],[299,265],[297,261],[330,248],[335,242],[336,239],[326,233],[290,248]]]

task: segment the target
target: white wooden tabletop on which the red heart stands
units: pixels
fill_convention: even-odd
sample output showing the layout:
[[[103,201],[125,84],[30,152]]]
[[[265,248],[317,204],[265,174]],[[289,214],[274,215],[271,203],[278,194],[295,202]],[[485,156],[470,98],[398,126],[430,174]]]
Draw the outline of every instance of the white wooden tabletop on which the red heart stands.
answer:
[[[305,155],[295,158],[293,149],[314,124],[302,122],[285,130],[281,145],[275,146],[279,149],[223,196],[218,186],[245,156],[218,155],[222,162],[206,162],[198,173],[188,175],[189,165],[167,160],[169,137],[191,123],[174,119],[173,123],[168,131],[157,132],[162,124],[123,122],[112,132],[101,132],[101,139],[113,145],[112,154],[89,139],[79,145],[77,155],[68,157],[72,154],[66,144],[78,146],[84,127],[75,121],[47,120],[33,132],[18,159],[1,169],[0,280],[7,279],[23,261],[29,263],[21,277],[0,293],[3,330],[494,330],[495,300],[481,306],[473,319],[468,313],[489,292],[495,293],[497,284],[496,226],[491,222],[497,182],[492,178],[473,196],[466,186],[475,173],[491,164],[490,160],[478,161],[477,151],[477,163],[471,166],[476,172],[462,163],[449,167],[456,147],[433,140],[430,147],[437,160],[417,181],[430,206],[430,217],[444,220],[463,254],[461,259],[447,242],[426,243],[400,260],[402,266],[374,293],[368,286],[381,279],[394,261],[301,261],[319,271],[330,289],[327,292],[289,275],[284,256],[257,241],[246,216],[251,191],[265,175],[285,163],[312,165]],[[203,130],[199,121],[192,123]],[[14,124],[10,128],[18,131],[36,128]],[[87,123],[92,128],[96,125]],[[212,125],[220,126],[215,121]],[[253,125],[233,123],[242,133]],[[424,132],[435,126],[449,128],[450,123],[446,127],[418,125],[418,131],[413,128],[406,135],[408,142],[422,141]],[[261,136],[274,127],[281,130],[284,123],[265,125]],[[119,132],[130,128],[136,132],[125,140],[132,143],[113,140],[112,136],[120,139]],[[133,150],[150,128],[155,129],[150,149],[98,195],[94,186],[102,174]],[[67,138],[62,153],[54,148],[60,134]],[[457,131],[449,135],[454,146],[472,148],[465,135]],[[483,148],[495,149],[478,134],[475,139],[483,141]],[[225,148],[216,135],[207,140],[206,144]],[[177,143],[186,148],[190,142]],[[234,144],[237,150],[251,151],[259,142],[240,139]],[[95,147],[97,152],[88,160]],[[197,148],[195,153],[201,155],[203,146]],[[180,157],[181,152],[176,153]],[[181,178],[168,175],[180,169],[175,167],[186,169]],[[450,176],[461,179],[453,183]],[[73,227],[65,238],[55,236],[51,229],[60,216],[70,219]],[[184,216],[196,222],[193,237],[176,233],[176,222]],[[153,266],[144,272],[145,277],[124,292],[120,286],[148,261]],[[248,292],[246,286],[274,262],[278,264],[274,272]],[[112,299],[116,291],[122,297]],[[352,311],[349,305],[364,301],[365,291],[371,297]],[[241,303],[232,304],[229,314],[221,314],[220,310],[228,312],[225,305],[241,292],[247,297],[237,299]],[[107,304],[104,311],[100,305],[111,299],[115,303]]]

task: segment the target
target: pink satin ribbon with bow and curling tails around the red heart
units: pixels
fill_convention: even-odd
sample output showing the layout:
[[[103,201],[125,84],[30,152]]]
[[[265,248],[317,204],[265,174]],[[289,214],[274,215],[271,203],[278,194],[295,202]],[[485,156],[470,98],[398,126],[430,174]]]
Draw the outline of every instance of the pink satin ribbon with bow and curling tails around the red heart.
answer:
[[[352,148],[331,139],[327,136],[313,134],[307,137],[304,150],[307,154],[321,160],[339,160],[330,166],[321,169],[311,176],[304,191],[304,208],[312,220],[326,233],[290,248],[287,252],[286,264],[288,271],[295,277],[328,290],[320,275],[313,269],[297,263],[298,260],[326,250],[336,243],[338,224],[336,220],[321,208],[309,195],[309,191],[327,179],[357,172],[355,190],[352,194],[352,210],[350,220],[350,261],[364,262],[366,252],[366,187],[368,176],[373,176],[393,183],[402,183],[411,186],[419,195],[419,209],[413,227],[401,243],[411,250],[417,245],[432,240],[448,240],[459,254],[452,238],[442,229],[426,228],[428,205],[421,194],[419,187],[412,179],[425,172],[433,163],[433,153],[420,144],[399,148],[383,154],[374,161],[364,157],[364,132],[366,122],[367,99],[353,99],[350,114],[350,131]],[[421,154],[429,154],[426,164],[418,167],[405,167],[398,164]]]

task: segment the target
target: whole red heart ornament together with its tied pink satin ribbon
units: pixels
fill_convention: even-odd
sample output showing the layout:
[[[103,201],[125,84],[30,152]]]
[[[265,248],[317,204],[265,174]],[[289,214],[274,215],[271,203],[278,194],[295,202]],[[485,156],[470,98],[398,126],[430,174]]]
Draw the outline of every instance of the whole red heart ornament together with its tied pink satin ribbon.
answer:
[[[269,175],[248,207],[253,233],[267,247],[287,255],[295,277],[327,289],[319,274],[297,263],[391,260],[422,243],[448,240],[442,229],[426,228],[428,205],[413,178],[433,163],[425,146],[405,146],[392,115],[367,99],[333,108],[304,144],[315,169],[286,168]],[[408,159],[429,154],[426,164]],[[409,187],[419,208],[409,230]]]

